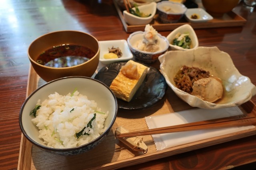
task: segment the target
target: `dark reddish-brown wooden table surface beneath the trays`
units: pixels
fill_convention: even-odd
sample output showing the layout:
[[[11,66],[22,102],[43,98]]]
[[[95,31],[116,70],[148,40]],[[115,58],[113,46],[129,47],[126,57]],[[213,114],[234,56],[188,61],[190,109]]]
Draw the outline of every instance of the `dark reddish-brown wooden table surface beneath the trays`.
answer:
[[[236,68],[256,84],[256,12],[242,6],[234,12],[244,26],[196,29],[200,46],[217,46],[230,54]],[[127,39],[112,0],[3,0],[0,3],[0,169],[16,169],[21,131],[20,107],[26,98],[27,49],[36,37],[51,31],[79,30],[99,41]],[[160,31],[167,36],[170,31]],[[256,103],[256,96],[252,98]],[[256,136],[246,137],[124,169],[253,169]]]

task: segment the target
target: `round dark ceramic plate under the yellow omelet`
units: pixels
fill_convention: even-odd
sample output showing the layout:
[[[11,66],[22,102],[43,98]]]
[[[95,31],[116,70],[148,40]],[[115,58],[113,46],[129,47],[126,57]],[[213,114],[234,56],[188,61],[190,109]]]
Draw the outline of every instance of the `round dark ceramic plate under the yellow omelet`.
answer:
[[[126,63],[127,61],[117,62],[103,67],[95,75],[95,79],[100,80],[109,87],[114,78],[116,78],[120,68]],[[132,100],[130,102],[126,102],[124,100],[117,99],[118,108],[131,110],[150,107],[164,97],[167,87],[164,76],[160,71],[149,66],[146,78],[137,90],[136,94],[134,94]]]

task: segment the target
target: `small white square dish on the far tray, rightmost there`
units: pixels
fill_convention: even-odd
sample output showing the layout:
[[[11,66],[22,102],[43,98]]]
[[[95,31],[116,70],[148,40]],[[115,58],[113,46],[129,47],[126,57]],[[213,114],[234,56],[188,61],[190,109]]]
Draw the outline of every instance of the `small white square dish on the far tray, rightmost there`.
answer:
[[[191,16],[194,14],[196,14],[199,18],[198,19],[191,18]],[[202,8],[190,8],[185,13],[185,16],[186,16],[186,20],[188,20],[189,22],[207,22],[213,19],[213,17]]]

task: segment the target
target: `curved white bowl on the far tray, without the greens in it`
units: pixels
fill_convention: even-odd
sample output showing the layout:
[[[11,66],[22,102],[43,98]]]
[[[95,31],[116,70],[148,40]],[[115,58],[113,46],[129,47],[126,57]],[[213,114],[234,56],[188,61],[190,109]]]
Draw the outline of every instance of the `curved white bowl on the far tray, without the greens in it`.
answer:
[[[135,8],[132,9],[135,10]],[[140,10],[140,12],[151,15],[149,17],[143,18],[130,14],[127,10],[124,10],[124,21],[126,21],[126,23],[128,23],[129,25],[146,25],[150,23],[156,14],[156,2],[151,2],[150,4],[138,6],[138,9]]]

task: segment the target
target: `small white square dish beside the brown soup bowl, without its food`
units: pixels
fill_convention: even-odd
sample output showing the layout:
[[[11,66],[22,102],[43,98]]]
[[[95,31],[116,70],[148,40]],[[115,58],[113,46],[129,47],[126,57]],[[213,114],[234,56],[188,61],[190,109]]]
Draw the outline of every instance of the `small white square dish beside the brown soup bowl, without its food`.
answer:
[[[125,39],[121,40],[110,40],[110,41],[99,41],[100,43],[100,62],[103,64],[111,64],[118,61],[128,61],[132,59],[133,55],[130,51],[127,41]],[[117,48],[122,51],[122,57],[118,59],[105,59],[104,54],[109,53],[108,48]]]

